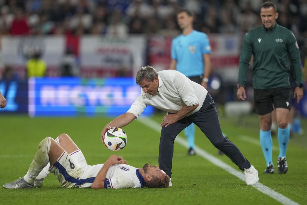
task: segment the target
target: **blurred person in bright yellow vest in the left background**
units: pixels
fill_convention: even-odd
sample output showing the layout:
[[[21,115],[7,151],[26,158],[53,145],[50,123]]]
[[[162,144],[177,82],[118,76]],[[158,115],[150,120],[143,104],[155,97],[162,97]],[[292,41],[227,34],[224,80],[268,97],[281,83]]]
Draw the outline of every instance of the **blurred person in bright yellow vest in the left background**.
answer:
[[[46,75],[46,62],[41,59],[41,51],[34,51],[27,61],[28,77],[44,77]]]

